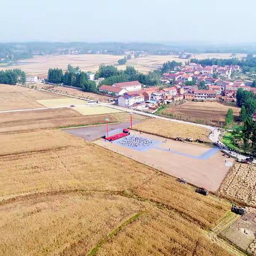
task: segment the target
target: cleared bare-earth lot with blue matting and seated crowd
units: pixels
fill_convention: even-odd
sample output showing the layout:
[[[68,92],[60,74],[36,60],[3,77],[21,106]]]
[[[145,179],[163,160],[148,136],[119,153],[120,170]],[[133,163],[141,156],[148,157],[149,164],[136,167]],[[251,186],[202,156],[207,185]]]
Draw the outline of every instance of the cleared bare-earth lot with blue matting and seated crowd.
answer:
[[[133,134],[154,143],[149,143],[149,146],[133,147],[123,145],[122,140],[113,143],[97,140],[94,143],[177,178],[185,178],[190,183],[211,191],[219,188],[229,170],[218,149],[168,139],[163,141],[162,137],[145,133],[143,135],[139,132]],[[125,142],[125,139],[123,140]],[[128,137],[127,140],[129,140]]]

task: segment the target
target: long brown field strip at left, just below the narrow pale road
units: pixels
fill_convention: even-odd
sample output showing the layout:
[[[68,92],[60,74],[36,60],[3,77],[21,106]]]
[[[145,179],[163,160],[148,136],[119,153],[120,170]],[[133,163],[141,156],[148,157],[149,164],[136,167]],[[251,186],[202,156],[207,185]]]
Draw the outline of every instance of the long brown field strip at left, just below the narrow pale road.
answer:
[[[130,120],[130,115],[127,112],[118,112],[84,116],[73,108],[21,111],[13,112],[11,115],[10,113],[0,113],[0,134],[56,127],[103,124],[106,118],[109,118],[111,123],[127,122]],[[146,118],[145,116],[133,115],[134,120]]]

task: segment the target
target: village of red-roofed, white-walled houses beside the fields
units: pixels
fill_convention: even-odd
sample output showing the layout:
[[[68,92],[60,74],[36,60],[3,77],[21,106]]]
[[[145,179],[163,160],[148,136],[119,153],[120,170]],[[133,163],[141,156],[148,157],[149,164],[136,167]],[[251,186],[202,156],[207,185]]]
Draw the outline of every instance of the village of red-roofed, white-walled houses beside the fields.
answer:
[[[182,100],[236,102],[239,88],[256,93],[251,81],[231,79],[231,74],[239,71],[239,66],[203,67],[191,62],[164,73],[161,86],[145,87],[138,81],[131,81],[102,85],[99,92],[115,96],[118,106],[150,112],[159,105]]]

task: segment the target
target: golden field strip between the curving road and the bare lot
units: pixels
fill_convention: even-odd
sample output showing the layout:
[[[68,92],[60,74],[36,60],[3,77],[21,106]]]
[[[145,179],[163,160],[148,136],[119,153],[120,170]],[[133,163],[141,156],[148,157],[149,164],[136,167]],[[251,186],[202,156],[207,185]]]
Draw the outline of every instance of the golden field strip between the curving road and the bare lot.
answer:
[[[174,139],[177,137],[189,138],[194,140],[201,138],[206,142],[211,142],[208,138],[210,130],[195,125],[181,124],[162,119],[149,119],[133,126],[134,130],[159,135]]]

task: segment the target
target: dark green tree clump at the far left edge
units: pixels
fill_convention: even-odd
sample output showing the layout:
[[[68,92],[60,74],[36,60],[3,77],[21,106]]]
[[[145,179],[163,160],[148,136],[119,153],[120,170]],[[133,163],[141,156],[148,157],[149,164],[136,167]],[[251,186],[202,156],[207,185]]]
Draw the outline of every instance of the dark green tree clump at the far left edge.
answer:
[[[20,69],[10,69],[0,71],[0,84],[15,85],[18,82],[25,84],[26,74]]]

